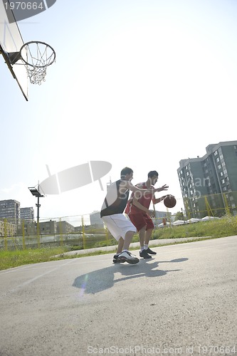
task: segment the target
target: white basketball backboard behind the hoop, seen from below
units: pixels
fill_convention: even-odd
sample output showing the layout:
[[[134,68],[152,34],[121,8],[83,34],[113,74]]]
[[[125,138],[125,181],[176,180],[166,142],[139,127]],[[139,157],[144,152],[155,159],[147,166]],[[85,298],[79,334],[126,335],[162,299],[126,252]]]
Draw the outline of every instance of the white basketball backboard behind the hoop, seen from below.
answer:
[[[6,6],[6,2],[9,3],[9,6]],[[0,53],[4,57],[11,75],[16,79],[23,96],[28,100],[28,75],[26,67],[21,59],[12,64],[9,58],[9,53],[19,52],[23,44],[23,38],[11,10],[10,1],[0,0]]]

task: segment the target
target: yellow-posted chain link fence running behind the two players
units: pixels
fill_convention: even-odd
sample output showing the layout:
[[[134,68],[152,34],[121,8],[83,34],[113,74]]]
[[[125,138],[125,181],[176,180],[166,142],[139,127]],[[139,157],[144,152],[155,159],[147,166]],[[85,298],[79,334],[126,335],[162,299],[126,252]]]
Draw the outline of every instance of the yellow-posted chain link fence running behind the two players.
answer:
[[[237,215],[237,192],[212,194],[205,197],[184,199],[184,211],[158,214],[154,218],[155,229],[174,226],[175,221],[191,222],[191,219]],[[93,221],[91,216],[93,215]],[[193,220],[194,221],[194,220]],[[41,248],[46,246],[70,246],[78,249],[109,246],[115,244],[106,226],[102,224],[100,213],[78,216],[64,216],[36,221],[0,219],[0,249],[14,250]]]

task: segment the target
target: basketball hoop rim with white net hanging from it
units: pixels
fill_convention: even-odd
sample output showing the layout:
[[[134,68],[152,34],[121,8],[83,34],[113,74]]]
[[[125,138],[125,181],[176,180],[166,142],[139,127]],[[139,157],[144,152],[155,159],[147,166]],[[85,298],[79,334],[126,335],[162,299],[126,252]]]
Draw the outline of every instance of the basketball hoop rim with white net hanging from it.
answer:
[[[32,84],[41,85],[46,81],[46,70],[56,61],[54,49],[47,43],[31,41],[24,43],[20,50],[21,60],[26,66]]]

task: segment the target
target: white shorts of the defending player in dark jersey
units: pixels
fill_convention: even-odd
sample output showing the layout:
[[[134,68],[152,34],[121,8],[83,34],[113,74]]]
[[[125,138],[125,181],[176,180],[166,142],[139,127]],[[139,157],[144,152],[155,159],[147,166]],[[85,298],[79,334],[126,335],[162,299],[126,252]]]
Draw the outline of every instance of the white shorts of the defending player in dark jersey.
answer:
[[[104,221],[110,234],[119,241],[120,237],[125,239],[125,234],[127,231],[137,232],[137,229],[123,214],[114,214],[102,216],[102,221]]]

